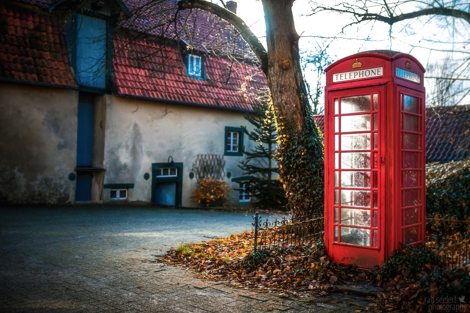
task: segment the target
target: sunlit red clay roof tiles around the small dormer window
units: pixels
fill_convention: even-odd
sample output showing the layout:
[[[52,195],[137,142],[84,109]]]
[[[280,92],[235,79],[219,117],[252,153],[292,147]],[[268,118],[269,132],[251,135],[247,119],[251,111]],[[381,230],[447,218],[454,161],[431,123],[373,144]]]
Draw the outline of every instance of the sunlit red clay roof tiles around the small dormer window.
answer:
[[[128,42],[124,38],[120,38],[114,40],[114,45],[117,53],[113,61],[113,73],[115,73],[114,77],[118,92],[121,94],[144,95],[209,105],[216,105],[211,98],[230,99],[221,106],[251,109],[251,104],[247,103],[243,95],[237,91],[245,76],[250,75],[251,72],[259,72],[259,69],[255,69],[252,65],[242,67],[234,63],[231,76],[234,77],[233,81],[236,85],[225,84],[227,78],[224,74],[229,68],[230,61],[210,56],[206,58],[204,65],[208,79],[203,81],[186,76],[176,45],[167,45],[165,47],[170,52],[170,60],[166,60],[167,64],[172,64],[173,67],[162,66],[161,57],[152,57],[145,60],[143,63],[145,67],[142,66],[142,68],[150,69],[149,71],[139,69],[139,64],[131,58],[135,52],[158,54],[159,44],[157,42],[147,39],[134,42],[132,46],[125,46],[128,45]],[[123,49],[124,46],[125,49]],[[248,70],[245,70],[245,67]],[[175,74],[168,73],[166,70],[171,70]],[[126,75],[126,72],[133,74]],[[260,82],[253,81],[253,83],[266,86],[264,76],[258,78],[258,80]],[[247,82],[248,91],[252,88],[251,83]],[[129,90],[125,86],[132,86],[132,89]],[[157,92],[149,92],[153,90]],[[162,95],[164,96],[162,97]]]

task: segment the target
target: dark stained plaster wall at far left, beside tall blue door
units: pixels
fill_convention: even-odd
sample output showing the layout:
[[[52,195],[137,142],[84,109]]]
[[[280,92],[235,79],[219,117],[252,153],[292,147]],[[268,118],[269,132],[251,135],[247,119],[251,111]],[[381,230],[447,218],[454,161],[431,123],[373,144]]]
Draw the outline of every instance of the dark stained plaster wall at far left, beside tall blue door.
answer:
[[[0,202],[73,203],[78,92],[0,84]]]

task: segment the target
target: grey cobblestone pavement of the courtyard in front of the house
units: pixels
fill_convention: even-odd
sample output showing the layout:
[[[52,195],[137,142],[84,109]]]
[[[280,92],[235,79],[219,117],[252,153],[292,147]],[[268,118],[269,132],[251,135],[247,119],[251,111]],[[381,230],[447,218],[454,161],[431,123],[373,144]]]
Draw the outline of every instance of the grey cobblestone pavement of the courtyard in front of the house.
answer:
[[[155,262],[181,241],[243,231],[245,214],[105,207],[0,214],[0,312],[347,313],[368,305],[338,293],[282,299]]]

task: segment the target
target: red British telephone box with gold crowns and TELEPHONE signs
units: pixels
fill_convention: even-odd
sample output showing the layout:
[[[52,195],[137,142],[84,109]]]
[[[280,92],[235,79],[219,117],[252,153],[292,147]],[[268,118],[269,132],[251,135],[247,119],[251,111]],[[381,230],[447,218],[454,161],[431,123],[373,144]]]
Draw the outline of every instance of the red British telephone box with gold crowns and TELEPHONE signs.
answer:
[[[325,72],[325,246],[370,268],[424,240],[424,68],[376,50]]]

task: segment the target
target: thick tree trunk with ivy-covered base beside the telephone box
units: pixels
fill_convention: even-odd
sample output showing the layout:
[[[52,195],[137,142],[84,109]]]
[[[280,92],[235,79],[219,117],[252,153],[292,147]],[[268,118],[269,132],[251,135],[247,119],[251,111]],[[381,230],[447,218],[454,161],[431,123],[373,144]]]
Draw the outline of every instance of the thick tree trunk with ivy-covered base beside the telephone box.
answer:
[[[320,134],[308,103],[293,0],[262,0],[266,22],[268,75],[278,123],[276,159],[293,215],[324,210],[324,168]]]

